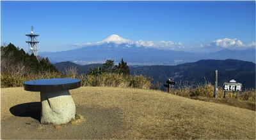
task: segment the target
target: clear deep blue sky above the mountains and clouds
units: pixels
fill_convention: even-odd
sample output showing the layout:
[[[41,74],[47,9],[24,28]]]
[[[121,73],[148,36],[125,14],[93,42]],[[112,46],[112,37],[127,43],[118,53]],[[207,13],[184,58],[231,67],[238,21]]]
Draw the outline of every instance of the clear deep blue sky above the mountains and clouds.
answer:
[[[1,1],[1,43],[28,50],[31,25],[41,52],[72,50],[111,34],[194,47],[227,38],[248,46],[255,41],[255,1]]]

